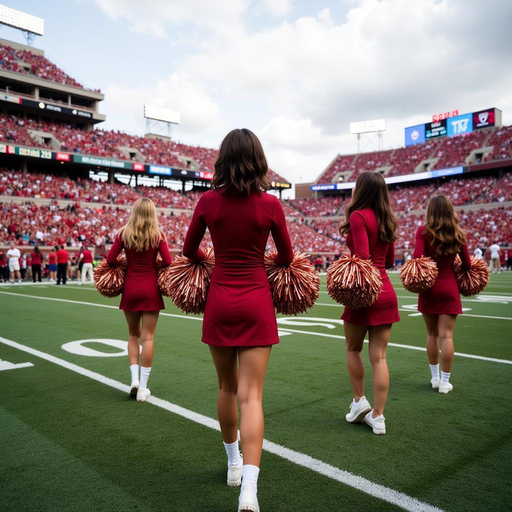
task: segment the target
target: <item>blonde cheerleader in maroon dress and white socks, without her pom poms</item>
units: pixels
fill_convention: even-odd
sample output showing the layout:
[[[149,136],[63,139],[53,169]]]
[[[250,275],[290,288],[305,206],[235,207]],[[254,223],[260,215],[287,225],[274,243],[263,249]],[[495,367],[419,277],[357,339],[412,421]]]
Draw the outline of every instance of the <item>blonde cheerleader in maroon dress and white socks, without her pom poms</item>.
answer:
[[[151,199],[139,198],[135,201],[127,224],[117,232],[106,262],[116,265],[117,257],[123,249],[127,265],[119,309],[124,311],[130,333],[130,394],[137,396],[137,401],[143,402],[151,395],[147,389],[147,379],[153,362],[153,341],[158,315],[164,309],[157,284],[157,254],[160,253],[163,265],[170,265],[172,262],[164,234],[158,227],[157,212]],[[139,339],[142,340],[142,352],[139,350]]]

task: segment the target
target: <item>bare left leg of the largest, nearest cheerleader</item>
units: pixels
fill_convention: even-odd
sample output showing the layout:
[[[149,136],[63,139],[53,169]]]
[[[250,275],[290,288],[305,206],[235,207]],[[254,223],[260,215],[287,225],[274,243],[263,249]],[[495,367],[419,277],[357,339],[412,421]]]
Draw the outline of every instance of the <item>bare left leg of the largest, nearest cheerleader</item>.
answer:
[[[238,439],[238,347],[210,345],[209,348],[219,380],[217,415],[222,439],[226,444],[231,444]]]

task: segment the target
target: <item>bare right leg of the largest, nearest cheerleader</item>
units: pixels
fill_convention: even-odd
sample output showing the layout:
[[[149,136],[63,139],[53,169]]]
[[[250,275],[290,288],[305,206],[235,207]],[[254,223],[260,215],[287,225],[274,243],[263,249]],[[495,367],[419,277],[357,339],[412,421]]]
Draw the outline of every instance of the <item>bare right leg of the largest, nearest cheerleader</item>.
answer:
[[[240,347],[238,358],[240,376],[238,399],[240,401],[240,439],[244,464],[260,466],[263,448],[263,382],[272,346]]]

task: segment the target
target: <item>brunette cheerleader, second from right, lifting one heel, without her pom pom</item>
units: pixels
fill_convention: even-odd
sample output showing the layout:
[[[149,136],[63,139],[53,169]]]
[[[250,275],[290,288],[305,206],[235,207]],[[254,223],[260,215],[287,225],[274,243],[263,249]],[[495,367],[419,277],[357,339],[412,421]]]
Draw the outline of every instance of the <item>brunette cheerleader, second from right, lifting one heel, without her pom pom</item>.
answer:
[[[339,232],[346,237],[351,255],[371,260],[380,271],[383,283],[379,297],[371,306],[361,309],[346,307],[342,315],[347,365],[354,391],[350,412],[345,418],[349,423],[364,421],[372,427],[374,434],[386,434],[383,416],[389,389],[386,348],[391,326],[400,321],[400,316],[396,293],[386,273],[395,260],[397,221],[389,202],[386,182],[380,173],[359,174],[345,215],[346,221]],[[373,371],[373,409],[365,397],[365,367],[361,358],[366,333]]]

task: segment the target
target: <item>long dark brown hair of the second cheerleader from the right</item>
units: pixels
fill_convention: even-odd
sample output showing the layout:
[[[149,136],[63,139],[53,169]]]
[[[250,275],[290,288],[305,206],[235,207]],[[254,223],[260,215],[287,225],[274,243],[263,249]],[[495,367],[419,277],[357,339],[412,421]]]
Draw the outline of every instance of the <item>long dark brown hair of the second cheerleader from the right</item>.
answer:
[[[372,208],[379,223],[380,239],[383,242],[394,242],[398,222],[389,202],[388,187],[380,173],[365,171],[355,180],[352,201],[345,208],[345,222],[339,226],[342,237],[350,231],[350,214],[363,208]]]

